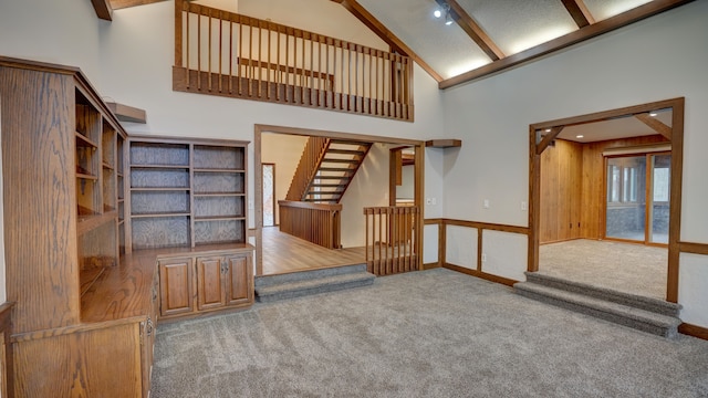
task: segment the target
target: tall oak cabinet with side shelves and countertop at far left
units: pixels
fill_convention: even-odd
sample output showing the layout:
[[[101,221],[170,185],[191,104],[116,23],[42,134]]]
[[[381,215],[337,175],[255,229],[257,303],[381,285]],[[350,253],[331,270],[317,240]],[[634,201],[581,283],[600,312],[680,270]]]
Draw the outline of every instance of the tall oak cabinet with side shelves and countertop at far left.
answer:
[[[79,70],[0,57],[0,134],[14,396],[146,396],[157,277],[119,261],[125,132]]]

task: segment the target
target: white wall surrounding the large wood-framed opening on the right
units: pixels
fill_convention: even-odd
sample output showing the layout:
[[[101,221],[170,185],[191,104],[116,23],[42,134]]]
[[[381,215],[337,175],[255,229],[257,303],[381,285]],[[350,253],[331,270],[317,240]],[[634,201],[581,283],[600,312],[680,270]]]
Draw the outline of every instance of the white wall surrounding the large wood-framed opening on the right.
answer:
[[[445,217],[528,224],[521,201],[529,193],[530,124],[685,96],[681,240],[708,243],[707,20],[708,1],[696,1],[445,91],[446,135],[464,142],[459,153],[445,154]],[[482,208],[485,199],[489,209]],[[507,235],[496,234],[485,251],[488,258],[512,262],[503,264],[503,274],[521,275],[525,247]],[[689,261],[681,255],[683,320],[704,327],[708,307],[705,294],[695,292],[696,286],[708,290],[706,266],[705,259]]]

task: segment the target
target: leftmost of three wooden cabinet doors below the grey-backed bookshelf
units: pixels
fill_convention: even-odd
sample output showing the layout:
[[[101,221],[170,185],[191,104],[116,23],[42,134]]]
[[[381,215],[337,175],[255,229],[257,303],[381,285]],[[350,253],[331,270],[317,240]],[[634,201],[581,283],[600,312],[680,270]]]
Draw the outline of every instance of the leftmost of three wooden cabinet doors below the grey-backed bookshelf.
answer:
[[[175,315],[194,311],[191,295],[191,259],[159,261],[160,315]]]

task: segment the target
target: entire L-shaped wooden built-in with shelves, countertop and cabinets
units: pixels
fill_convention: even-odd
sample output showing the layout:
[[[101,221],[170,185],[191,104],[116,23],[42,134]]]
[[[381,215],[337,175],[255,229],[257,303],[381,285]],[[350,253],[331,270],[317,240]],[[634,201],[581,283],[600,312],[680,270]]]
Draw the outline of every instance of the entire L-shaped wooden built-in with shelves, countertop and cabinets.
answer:
[[[148,397],[158,314],[253,303],[248,143],[128,138],[79,69],[1,56],[0,133],[13,396]]]

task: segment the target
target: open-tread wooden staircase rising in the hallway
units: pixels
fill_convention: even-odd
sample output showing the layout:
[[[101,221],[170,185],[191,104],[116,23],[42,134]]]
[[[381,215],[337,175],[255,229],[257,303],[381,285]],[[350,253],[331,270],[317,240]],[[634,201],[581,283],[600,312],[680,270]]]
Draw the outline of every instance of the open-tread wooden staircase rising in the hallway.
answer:
[[[300,200],[339,203],[371,147],[371,143],[329,139],[324,155]]]

